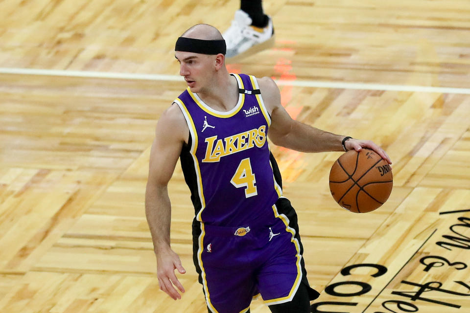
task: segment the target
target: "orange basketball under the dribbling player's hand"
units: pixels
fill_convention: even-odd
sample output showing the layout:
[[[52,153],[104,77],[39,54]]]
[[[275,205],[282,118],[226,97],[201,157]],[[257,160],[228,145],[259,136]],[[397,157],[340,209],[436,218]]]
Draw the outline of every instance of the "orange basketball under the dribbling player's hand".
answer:
[[[354,213],[374,211],[392,192],[390,165],[369,149],[350,150],[340,156],[329,172],[333,199]]]

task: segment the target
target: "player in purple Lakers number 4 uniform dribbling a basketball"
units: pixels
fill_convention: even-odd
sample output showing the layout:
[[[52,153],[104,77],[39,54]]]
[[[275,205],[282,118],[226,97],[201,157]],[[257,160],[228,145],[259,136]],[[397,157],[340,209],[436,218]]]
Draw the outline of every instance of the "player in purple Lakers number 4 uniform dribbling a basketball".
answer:
[[[293,120],[275,82],[229,74],[226,46],[210,25],[178,38],[175,57],[185,90],[161,116],[145,195],[160,288],[180,299],[185,273],[170,247],[167,183],[178,158],[195,209],[193,259],[212,313],[249,312],[261,294],[274,313],[307,313],[319,293],[308,285],[297,215],[282,196],[281,175],[266,137],[303,152],[369,148],[375,143],[331,134]]]

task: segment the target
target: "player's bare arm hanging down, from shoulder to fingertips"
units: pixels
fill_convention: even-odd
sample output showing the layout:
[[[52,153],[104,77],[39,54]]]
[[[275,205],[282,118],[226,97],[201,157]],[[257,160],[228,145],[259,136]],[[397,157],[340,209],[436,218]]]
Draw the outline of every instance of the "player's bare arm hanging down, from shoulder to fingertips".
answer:
[[[152,234],[157,257],[157,277],[160,289],[174,300],[185,292],[175,275],[184,274],[179,256],[170,247],[171,204],[167,185],[173,175],[189,129],[178,105],[173,104],[160,117],[150,151],[149,173],[145,190],[145,216]]]

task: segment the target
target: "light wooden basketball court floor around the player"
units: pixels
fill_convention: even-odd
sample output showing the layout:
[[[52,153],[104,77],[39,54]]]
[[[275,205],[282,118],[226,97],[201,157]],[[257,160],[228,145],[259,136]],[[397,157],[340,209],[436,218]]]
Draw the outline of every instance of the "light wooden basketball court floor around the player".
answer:
[[[238,4],[0,1],[1,313],[207,312],[179,165],[178,301],[158,287],[144,191],[156,121],[185,89],[176,38],[200,22],[227,28]],[[393,161],[389,200],[353,214],[329,193],[341,153],[272,146],[321,291],[312,312],[470,312],[469,2],[263,4],[276,44],[230,70],[273,77],[294,118],[372,139]],[[251,312],[269,310],[258,298]]]

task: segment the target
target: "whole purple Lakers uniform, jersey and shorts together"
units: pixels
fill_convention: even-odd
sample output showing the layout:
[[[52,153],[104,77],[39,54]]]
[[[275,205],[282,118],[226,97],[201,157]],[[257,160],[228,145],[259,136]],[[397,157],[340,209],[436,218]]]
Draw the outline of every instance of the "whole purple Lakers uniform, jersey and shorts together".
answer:
[[[297,216],[266,140],[271,117],[256,78],[232,75],[239,96],[229,112],[189,88],[175,100],[190,133],[180,158],[195,209],[193,260],[212,313],[247,312],[257,294],[288,302],[308,286]]]

